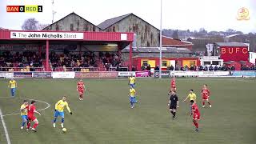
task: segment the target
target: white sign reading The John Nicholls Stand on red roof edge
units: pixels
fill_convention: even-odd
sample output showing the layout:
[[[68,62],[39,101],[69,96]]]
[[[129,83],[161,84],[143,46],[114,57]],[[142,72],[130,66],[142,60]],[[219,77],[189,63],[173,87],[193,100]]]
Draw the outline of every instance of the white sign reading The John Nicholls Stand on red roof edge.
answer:
[[[83,39],[83,33],[11,31],[11,39]]]

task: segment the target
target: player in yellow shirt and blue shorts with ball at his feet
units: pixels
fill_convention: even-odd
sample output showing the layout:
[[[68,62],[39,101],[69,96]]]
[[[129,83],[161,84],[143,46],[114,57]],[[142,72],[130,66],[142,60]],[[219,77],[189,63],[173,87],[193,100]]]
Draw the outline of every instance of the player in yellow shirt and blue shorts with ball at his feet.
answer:
[[[56,127],[55,122],[57,121],[58,116],[62,117],[62,128],[64,127],[64,108],[65,108],[65,106],[66,106],[66,109],[69,111],[69,113],[72,114],[69,104],[66,102],[66,96],[64,96],[62,98],[62,100],[59,100],[55,104],[54,127]]]

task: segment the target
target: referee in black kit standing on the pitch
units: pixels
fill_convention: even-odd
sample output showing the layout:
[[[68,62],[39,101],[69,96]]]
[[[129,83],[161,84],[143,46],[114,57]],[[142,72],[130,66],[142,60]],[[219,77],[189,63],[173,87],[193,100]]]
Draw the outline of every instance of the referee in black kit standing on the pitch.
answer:
[[[176,109],[178,108],[178,96],[172,90],[170,93],[170,100],[168,102],[168,106],[170,106],[170,113],[173,114],[173,118],[176,116]]]

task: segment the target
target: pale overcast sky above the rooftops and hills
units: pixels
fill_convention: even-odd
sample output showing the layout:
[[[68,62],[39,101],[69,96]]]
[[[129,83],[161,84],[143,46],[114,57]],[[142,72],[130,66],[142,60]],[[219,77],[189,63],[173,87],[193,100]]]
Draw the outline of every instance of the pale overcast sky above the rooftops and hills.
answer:
[[[26,18],[51,24],[72,12],[98,25],[106,19],[133,13],[160,28],[160,0],[0,0],[0,27],[21,30]],[[7,13],[6,6],[42,5],[42,13]],[[250,20],[238,21],[238,10],[246,7]],[[174,30],[256,32],[256,0],[162,0],[162,28]]]

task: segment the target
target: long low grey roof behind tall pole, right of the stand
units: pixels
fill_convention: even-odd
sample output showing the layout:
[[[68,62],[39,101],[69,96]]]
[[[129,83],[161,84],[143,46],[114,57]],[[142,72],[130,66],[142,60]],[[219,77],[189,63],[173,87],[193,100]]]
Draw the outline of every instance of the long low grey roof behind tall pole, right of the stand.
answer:
[[[122,52],[129,52],[129,48],[123,49]],[[133,52],[138,53],[159,53],[159,47],[142,47],[133,49]],[[165,47],[162,49],[162,53],[186,53],[191,54],[192,51],[186,48],[177,48],[177,47]]]

